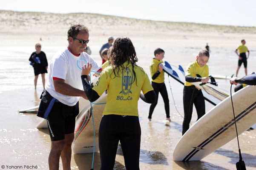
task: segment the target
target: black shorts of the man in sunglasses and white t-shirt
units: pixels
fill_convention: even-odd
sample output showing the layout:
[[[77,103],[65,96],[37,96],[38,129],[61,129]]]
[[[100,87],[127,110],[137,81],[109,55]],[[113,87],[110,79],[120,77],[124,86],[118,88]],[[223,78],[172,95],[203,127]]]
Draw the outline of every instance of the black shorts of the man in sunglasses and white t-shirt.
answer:
[[[51,141],[65,139],[65,134],[75,131],[75,117],[79,114],[78,103],[75,106],[67,106],[55,102],[46,118]]]

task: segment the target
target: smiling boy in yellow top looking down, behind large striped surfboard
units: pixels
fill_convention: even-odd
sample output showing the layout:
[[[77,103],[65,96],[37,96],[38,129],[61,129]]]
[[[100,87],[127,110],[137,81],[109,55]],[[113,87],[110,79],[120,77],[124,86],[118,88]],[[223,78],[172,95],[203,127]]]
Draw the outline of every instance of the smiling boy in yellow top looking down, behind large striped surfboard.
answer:
[[[193,103],[196,107],[197,120],[205,114],[204,96],[198,87],[190,82],[201,81],[207,83],[209,81],[209,68],[206,65],[209,60],[209,52],[201,50],[196,56],[196,61],[188,64],[185,74],[186,82],[183,89],[183,107],[184,107],[184,120],[182,124],[182,135],[189,129],[190,120],[193,112]],[[201,77],[197,77],[200,75]]]

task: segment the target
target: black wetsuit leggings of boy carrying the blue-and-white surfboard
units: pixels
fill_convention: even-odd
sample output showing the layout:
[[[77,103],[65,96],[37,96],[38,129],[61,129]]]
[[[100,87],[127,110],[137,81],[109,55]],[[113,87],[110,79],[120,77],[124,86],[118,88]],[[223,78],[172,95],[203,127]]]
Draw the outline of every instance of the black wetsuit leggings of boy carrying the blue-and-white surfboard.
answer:
[[[161,96],[163,97],[163,100],[164,100],[164,109],[165,109],[166,117],[170,118],[169,98],[168,98],[168,93],[167,93],[167,89],[166,89],[165,84],[164,83],[155,83],[155,82],[151,82],[151,84],[152,84],[152,87],[155,91],[156,100],[155,100],[155,103],[150,105],[150,112],[149,112],[148,118],[149,119],[152,118],[153,111],[154,111],[155,106],[157,104],[159,92],[160,92],[160,94],[161,94]]]

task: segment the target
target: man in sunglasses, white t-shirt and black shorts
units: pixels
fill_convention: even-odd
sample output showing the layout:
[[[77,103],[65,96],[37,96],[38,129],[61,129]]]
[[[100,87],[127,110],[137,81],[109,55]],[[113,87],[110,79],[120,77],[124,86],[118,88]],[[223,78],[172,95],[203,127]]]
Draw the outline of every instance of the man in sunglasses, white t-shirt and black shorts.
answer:
[[[102,68],[87,53],[83,52],[89,42],[89,30],[82,24],[71,25],[67,38],[69,45],[53,56],[49,69],[49,80],[43,98],[55,98],[55,103],[46,118],[51,137],[49,169],[59,169],[61,156],[63,169],[70,170],[71,145],[74,139],[75,117],[79,113],[80,97],[88,100],[81,84],[81,66],[92,63],[92,71]],[[80,65],[80,67],[79,67]],[[99,75],[95,73],[95,75]],[[57,101],[57,102],[56,102]],[[47,100],[41,100],[41,103]],[[40,104],[41,105],[41,104]]]

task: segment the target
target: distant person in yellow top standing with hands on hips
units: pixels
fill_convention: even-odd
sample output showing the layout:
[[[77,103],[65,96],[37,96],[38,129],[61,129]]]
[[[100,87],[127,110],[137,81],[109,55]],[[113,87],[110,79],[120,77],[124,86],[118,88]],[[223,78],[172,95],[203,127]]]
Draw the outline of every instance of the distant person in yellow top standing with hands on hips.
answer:
[[[245,75],[247,75],[247,59],[249,58],[249,50],[245,46],[245,40],[242,39],[241,42],[242,42],[242,45],[237,47],[236,51],[235,51],[236,55],[239,57],[238,67],[236,69],[236,77],[237,77],[238,71],[239,71],[242,63],[244,63],[244,72],[245,72]],[[237,53],[237,50],[239,50],[239,54]],[[248,52],[248,56],[247,57],[246,57],[246,52]]]

